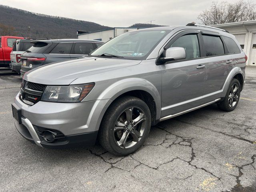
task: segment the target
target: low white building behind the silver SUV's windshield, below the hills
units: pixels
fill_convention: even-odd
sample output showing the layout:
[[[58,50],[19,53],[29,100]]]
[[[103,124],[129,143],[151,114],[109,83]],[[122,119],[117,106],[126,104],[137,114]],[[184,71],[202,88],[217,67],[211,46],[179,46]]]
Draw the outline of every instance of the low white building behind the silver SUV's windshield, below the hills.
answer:
[[[114,27],[110,29],[105,29],[101,31],[95,32],[87,32],[82,34],[77,34],[78,39],[86,39],[86,40],[100,40],[103,42],[107,42],[110,39],[121,35],[123,33],[137,30],[138,28],[130,28],[130,27]]]

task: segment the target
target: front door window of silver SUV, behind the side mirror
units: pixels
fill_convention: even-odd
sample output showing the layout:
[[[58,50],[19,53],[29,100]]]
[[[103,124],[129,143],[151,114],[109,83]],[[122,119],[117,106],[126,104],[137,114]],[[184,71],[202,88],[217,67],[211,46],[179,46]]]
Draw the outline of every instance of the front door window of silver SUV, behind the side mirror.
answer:
[[[199,43],[196,34],[181,36],[170,47],[183,47],[186,51],[186,59],[200,57]]]

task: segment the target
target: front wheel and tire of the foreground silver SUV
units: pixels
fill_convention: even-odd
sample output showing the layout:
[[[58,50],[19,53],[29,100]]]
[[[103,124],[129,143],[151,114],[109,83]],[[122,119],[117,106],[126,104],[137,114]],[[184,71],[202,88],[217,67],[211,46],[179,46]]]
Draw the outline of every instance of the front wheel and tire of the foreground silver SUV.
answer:
[[[147,104],[139,98],[124,96],[115,100],[106,111],[98,140],[108,152],[126,156],[140,148],[150,126],[151,114]]]

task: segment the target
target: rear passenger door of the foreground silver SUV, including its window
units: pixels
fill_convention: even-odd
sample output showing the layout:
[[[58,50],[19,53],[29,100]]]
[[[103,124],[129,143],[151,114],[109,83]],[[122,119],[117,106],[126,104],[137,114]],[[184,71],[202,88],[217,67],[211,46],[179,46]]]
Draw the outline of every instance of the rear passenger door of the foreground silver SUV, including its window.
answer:
[[[202,31],[202,43],[206,56],[206,80],[204,94],[212,99],[221,92],[224,82],[233,68],[233,57],[228,54],[222,37],[218,33]]]

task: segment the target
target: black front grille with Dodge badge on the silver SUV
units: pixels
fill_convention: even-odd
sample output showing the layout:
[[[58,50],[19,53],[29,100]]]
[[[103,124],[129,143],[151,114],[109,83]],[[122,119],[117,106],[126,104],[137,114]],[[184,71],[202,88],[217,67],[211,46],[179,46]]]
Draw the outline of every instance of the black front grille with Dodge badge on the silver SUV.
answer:
[[[45,87],[46,85],[24,80],[22,81],[20,99],[28,105],[34,105],[40,101]]]

